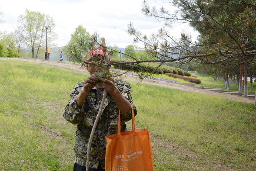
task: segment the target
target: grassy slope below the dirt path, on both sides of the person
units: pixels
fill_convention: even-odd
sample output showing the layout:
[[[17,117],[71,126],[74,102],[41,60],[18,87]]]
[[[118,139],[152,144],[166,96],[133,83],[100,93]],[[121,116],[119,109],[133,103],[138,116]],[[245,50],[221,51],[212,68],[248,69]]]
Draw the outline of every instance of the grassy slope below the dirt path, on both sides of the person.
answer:
[[[62,114],[86,75],[20,61],[0,61],[0,73],[0,170],[72,170],[76,126]],[[253,104],[131,84],[155,171],[256,169]]]

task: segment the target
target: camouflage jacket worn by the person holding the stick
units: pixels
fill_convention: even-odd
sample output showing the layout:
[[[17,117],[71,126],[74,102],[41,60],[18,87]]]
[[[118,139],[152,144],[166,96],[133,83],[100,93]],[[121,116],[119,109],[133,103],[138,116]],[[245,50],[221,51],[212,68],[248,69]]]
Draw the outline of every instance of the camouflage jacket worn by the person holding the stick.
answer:
[[[125,97],[134,107],[134,114],[136,115],[136,106],[130,94],[131,86],[125,81],[115,80],[116,87],[120,90],[123,97]],[[79,165],[86,166],[87,147],[90,138],[90,133],[93,128],[93,123],[100,108],[101,97],[94,87],[83,103],[83,106],[76,105],[76,96],[80,90],[83,89],[83,82],[74,86],[70,93],[71,99],[66,105],[63,117],[70,123],[77,124],[75,137],[75,162]],[[127,113],[120,113],[121,117],[121,131],[126,131],[126,124],[124,122],[132,119],[131,110]],[[105,153],[106,153],[106,139],[116,133],[119,109],[116,103],[108,93],[103,105],[103,113],[97,123],[94,132],[93,141],[91,144],[89,168],[98,168],[101,162],[102,168],[105,168]]]

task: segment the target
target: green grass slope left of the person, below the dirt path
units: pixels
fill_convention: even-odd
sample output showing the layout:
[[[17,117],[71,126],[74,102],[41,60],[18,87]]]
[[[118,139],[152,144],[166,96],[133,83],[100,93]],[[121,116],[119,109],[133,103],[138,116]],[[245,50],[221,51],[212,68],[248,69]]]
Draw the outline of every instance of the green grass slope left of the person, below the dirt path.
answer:
[[[71,170],[75,126],[62,113],[86,75],[0,61],[0,170]]]

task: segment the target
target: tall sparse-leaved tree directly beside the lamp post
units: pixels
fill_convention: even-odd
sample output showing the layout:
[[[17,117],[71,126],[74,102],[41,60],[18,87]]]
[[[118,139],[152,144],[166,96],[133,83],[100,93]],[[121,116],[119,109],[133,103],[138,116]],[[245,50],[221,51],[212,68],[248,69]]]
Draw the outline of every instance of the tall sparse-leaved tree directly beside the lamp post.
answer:
[[[18,16],[18,23],[23,31],[26,44],[31,49],[32,58],[37,58],[40,50],[45,50],[46,32],[43,26],[49,26],[51,31],[47,32],[47,45],[53,45],[53,40],[57,39],[57,34],[53,31],[55,23],[52,17],[47,14],[25,10],[25,15]],[[35,56],[36,54],[36,56]]]

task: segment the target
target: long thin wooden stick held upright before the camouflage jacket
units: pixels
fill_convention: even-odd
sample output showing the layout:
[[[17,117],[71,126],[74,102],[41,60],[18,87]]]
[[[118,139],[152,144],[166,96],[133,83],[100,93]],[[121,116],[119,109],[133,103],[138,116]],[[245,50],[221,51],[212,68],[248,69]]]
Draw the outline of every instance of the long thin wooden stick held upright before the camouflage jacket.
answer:
[[[108,52],[106,50],[105,39],[101,38],[101,41],[102,41],[102,44],[103,44],[103,52],[104,52],[105,61],[108,64],[110,64],[110,58],[109,58]],[[107,66],[107,69],[109,70],[109,66]],[[105,98],[106,98],[106,93],[107,93],[106,90],[104,90],[103,97],[102,97],[102,100],[101,100],[101,103],[100,103],[100,109],[99,109],[99,112],[98,112],[98,114],[96,116],[95,122],[93,123],[93,129],[92,129],[92,132],[91,132],[91,135],[90,135],[90,139],[89,139],[89,142],[88,142],[87,157],[86,157],[86,171],[89,171],[89,159],[90,159],[90,152],[91,152],[91,144],[92,144],[92,141],[93,141],[93,134],[95,132],[95,129],[96,129],[97,123],[98,123],[98,121],[100,119],[100,116],[101,116],[101,114],[103,112],[102,108],[103,108],[103,104],[104,104],[104,101],[105,101]]]

